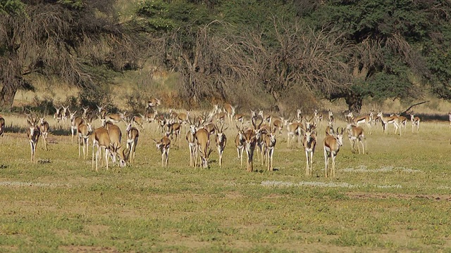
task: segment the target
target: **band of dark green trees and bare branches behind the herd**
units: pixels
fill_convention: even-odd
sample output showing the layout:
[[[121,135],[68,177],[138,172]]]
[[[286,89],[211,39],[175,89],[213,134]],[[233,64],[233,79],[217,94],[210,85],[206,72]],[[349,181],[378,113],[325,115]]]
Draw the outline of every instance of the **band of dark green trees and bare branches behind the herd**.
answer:
[[[2,1],[0,106],[28,74],[97,89],[138,56],[179,72],[188,106],[451,99],[450,1],[144,0],[127,22],[114,2]]]

